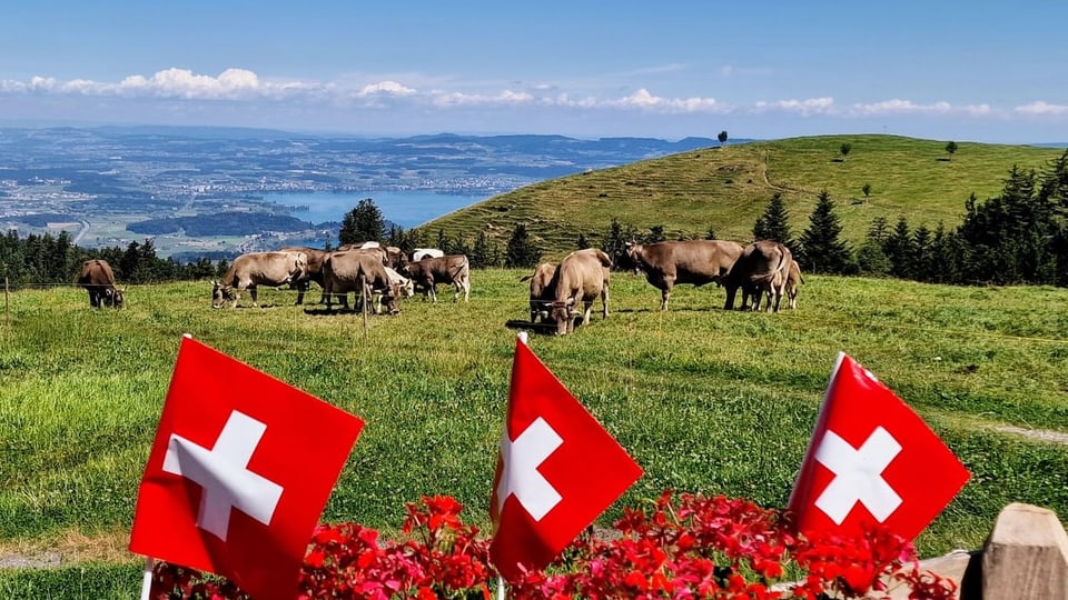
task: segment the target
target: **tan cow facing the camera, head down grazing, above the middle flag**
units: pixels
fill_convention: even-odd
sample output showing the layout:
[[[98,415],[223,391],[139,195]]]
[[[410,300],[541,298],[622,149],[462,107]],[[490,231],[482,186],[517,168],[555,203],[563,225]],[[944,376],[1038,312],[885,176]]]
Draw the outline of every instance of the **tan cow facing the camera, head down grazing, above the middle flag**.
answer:
[[[575,250],[556,266],[553,281],[552,319],[556,334],[571,333],[575,328],[575,307],[583,303],[582,324],[590,322],[593,301],[601,297],[601,314],[609,318],[609,273],[612,259],[596,248]]]

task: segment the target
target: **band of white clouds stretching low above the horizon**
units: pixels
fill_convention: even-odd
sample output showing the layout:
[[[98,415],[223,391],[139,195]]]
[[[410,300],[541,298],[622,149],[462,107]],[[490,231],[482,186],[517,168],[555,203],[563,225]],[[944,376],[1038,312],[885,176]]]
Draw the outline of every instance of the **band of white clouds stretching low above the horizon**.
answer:
[[[300,124],[322,129],[332,120],[340,129],[366,128],[372,119],[382,128],[388,128],[393,119],[406,123],[408,129],[479,122],[492,129],[507,129],[506,123],[512,122],[521,123],[512,126],[514,132],[542,132],[553,123],[562,128],[585,123],[592,130],[599,122],[614,120],[617,123],[620,119],[629,119],[635,133],[640,133],[643,128],[655,127],[656,119],[669,117],[682,118],[680,123],[688,123],[686,118],[691,119],[689,123],[696,122],[692,119],[698,118],[718,118],[724,124],[788,123],[791,119],[801,119],[813,121],[824,133],[847,132],[850,126],[874,129],[872,123],[877,120],[900,117],[967,121],[973,129],[988,124],[1037,126],[1038,131],[1048,131],[1068,123],[1068,104],[1040,98],[1020,106],[920,102],[906,98],[844,102],[832,96],[726,102],[711,97],[661,96],[652,86],[627,92],[611,88],[590,91],[577,84],[568,90],[558,83],[465,83],[415,74],[408,76],[412,81],[402,79],[350,76],[337,81],[317,81],[261,77],[240,68],[228,68],[216,76],[168,68],[150,76],[130,74],[119,81],[59,80],[42,76],[0,80],[0,102],[16,109],[8,111],[8,118],[33,118],[26,101],[34,100],[43,101],[46,108],[55,102],[52,113],[42,110],[39,118],[109,120],[126,116],[127,119],[186,124],[219,124],[234,119],[235,126],[259,126],[275,120],[281,129]],[[65,112],[57,114],[59,111]],[[515,129],[517,127],[535,130],[522,131]],[[886,130],[886,122],[882,128]],[[703,129],[708,129],[708,124]]]

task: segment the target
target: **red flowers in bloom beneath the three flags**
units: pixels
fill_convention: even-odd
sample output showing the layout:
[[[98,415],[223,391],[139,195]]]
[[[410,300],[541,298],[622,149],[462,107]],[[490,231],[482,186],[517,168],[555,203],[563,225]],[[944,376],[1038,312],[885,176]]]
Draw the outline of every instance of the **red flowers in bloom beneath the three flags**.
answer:
[[[464,524],[449,497],[407,504],[403,539],[356,523],[320,524],[300,572],[300,600],[449,598],[490,600],[497,573],[490,540]],[[805,538],[790,516],[746,500],[665,491],[646,510],[625,509],[615,531],[580,536],[543,571],[508,584],[525,599],[881,598],[951,599],[957,584],[921,571],[912,544],[886,529]],[[168,563],[155,599],[244,599],[231,583]]]

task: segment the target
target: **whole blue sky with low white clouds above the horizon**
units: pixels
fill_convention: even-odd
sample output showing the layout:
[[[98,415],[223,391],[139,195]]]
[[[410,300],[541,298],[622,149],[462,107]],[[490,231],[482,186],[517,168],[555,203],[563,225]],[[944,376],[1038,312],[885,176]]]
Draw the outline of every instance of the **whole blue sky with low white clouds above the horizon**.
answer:
[[[1068,141],[1068,2],[14,2],[0,124]]]

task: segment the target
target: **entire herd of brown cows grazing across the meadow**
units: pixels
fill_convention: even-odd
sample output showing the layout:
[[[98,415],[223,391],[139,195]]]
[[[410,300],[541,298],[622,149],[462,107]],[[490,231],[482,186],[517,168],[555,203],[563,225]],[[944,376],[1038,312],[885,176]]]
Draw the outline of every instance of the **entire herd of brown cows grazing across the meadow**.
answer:
[[[703,286],[715,282],[726,288],[724,309],[734,309],[738,291],[742,292],[741,308],[760,310],[767,294],[767,311],[779,311],[787,297],[790,308],[797,307],[801,270],[784,244],[760,240],[743,247],[724,240],[664,241],[657,243],[627,243],[620,257],[622,264],[635,274],[644,273],[653,287],[661,290],[661,310],[668,310],[672,289],[680,283]],[[576,250],[560,263],[543,262],[530,281],[532,323],[555,324],[556,333],[573,331],[575,319],[590,322],[594,301],[600,298],[603,317],[609,316],[609,280],[612,258],[602,250]],[[348,308],[348,294],[356,302],[366,299],[367,311],[400,312],[398,300],[419,291],[424,299],[437,302],[438,284],[455,287],[453,301],[464,301],[471,294],[471,266],[464,254],[446,256],[436,249],[416,249],[411,259],[395,247],[377,242],[342,246],[335,251],[307,247],[286,247],[271,252],[250,252],[234,259],[226,274],[212,281],[211,306],[237,307],[240,294],[248,291],[253,306],[258,286],[297,290],[297,304],[315,282],[323,290],[320,303],[327,311],[335,301]],[[78,276],[78,284],[89,292],[93,308],[123,304],[123,292],[116,288],[115,273],[107,261],[87,260]],[[374,301],[370,309],[369,301]],[[583,310],[578,310],[582,304]]]

